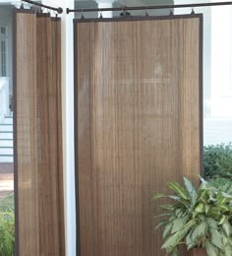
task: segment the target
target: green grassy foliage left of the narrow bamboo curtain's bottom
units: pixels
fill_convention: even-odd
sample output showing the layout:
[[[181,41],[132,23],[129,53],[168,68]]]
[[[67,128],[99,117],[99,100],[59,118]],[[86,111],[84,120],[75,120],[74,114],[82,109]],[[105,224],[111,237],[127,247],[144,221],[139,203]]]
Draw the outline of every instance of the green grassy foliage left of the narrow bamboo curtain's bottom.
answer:
[[[14,194],[11,194],[0,199],[0,256],[13,256],[14,247]]]

